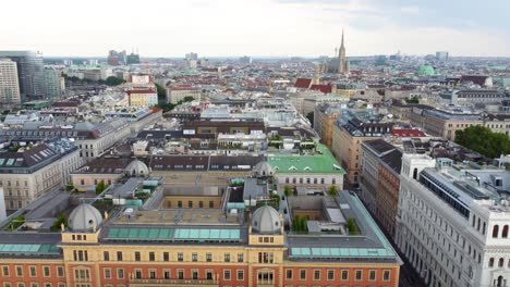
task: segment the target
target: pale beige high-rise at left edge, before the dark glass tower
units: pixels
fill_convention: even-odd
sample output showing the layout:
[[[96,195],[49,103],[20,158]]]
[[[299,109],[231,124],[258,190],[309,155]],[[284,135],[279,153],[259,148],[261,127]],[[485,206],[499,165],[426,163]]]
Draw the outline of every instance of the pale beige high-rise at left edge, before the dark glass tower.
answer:
[[[17,67],[10,59],[0,59],[0,104],[20,104],[20,82]]]

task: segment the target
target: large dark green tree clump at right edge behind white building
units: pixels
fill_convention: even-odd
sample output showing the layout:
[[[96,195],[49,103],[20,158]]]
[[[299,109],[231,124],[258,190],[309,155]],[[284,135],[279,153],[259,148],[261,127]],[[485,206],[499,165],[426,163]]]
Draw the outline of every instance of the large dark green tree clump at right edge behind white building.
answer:
[[[502,133],[493,133],[485,126],[470,126],[456,132],[456,142],[487,158],[510,153],[510,139]]]

